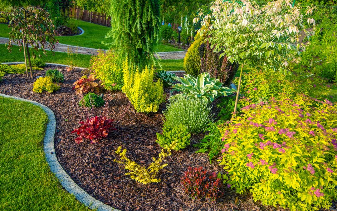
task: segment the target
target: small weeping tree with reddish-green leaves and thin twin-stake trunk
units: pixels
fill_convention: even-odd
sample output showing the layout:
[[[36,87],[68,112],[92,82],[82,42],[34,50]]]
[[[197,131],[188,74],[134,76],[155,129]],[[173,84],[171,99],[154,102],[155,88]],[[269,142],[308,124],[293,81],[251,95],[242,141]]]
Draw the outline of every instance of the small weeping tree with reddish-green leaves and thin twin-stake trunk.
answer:
[[[30,61],[30,53],[28,45],[32,49],[42,49],[45,54],[45,48],[49,47],[51,50],[55,48],[57,40],[54,35],[56,34],[55,26],[50,19],[47,11],[38,7],[19,7],[9,14],[9,25],[11,29],[9,32],[8,50],[11,51],[12,43],[19,46],[20,51],[22,47],[25,55],[26,73],[28,77],[27,58],[30,69],[30,77],[33,78],[32,65]],[[32,56],[35,57],[34,52]]]

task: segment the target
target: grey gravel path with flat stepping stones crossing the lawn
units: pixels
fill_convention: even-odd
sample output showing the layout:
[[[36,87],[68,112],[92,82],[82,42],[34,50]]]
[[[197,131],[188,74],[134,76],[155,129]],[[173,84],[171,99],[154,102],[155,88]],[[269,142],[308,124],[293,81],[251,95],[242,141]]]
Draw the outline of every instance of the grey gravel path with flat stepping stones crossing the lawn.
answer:
[[[0,44],[8,43],[9,38],[0,37]],[[13,44],[15,45],[15,44]],[[50,50],[46,48],[46,50]],[[72,53],[79,53],[79,54],[87,54],[87,55],[97,55],[97,50],[94,48],[85,48],[79,46],[70,46],[65,44],[57,44],[55,46],[54,51],[56,52],[72,52]],[[103,50],[106,51],[106,50]],[[162,52],[155,55],[157,58],[160,57],[161,59],[183,59],[185,57],[186,51],[182,52]]]

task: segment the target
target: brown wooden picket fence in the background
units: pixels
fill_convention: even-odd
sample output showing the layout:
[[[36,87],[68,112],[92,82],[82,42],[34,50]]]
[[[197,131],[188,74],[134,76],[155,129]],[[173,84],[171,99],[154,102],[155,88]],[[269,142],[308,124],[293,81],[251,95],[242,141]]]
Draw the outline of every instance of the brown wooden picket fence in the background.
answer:
[[[74,5],[73,7],[70,7],[68,16],[70,18],[111,27],[110,23],[111,18],[110,17],[106,18],[105,13],[91,12],[80,8],[79,6]]]

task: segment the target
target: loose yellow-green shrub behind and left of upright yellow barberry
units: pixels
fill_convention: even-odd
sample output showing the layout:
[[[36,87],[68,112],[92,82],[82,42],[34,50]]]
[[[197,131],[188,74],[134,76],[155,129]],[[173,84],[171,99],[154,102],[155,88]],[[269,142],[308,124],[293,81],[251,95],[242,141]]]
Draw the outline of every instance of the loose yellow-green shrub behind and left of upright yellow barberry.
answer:
[[[90,60],[91,71],[106,90],[121,90],[123,87],[123,70],[116,59],[113,51],[98,51]]]

